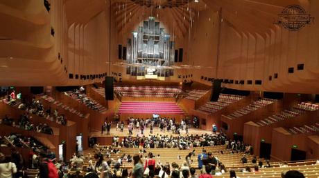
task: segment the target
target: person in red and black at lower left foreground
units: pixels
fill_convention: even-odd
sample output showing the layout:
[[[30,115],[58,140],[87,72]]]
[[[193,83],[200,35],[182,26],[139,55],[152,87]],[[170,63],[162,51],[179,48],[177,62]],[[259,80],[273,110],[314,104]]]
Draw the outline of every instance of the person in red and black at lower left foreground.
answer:
[[[39,178],[58,178],[58,170],[45,152],[40,153],[41,164]]]

